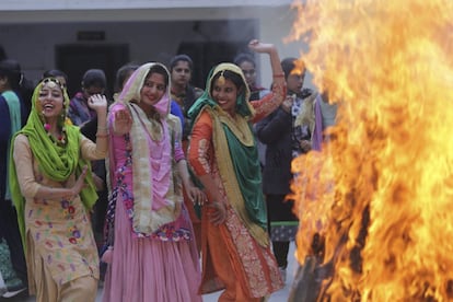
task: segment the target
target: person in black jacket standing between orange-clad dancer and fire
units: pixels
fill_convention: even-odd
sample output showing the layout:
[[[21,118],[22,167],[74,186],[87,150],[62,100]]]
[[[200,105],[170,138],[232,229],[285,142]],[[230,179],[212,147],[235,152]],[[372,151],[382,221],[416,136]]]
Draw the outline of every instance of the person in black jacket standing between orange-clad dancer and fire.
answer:
[[[263,169],[263,190],[266,195],[268,230],[272,251],[281,276],[286,280],[288,252],[298,231],[298,218],[292,212],[293,200],[287,200],[292,181],[291,161],[311,150],[310,127],[294,127],[295,118],[306,108],[304,102],[315,94],[303,90],[305,70],[295,58],[281,61],[287,81],[287,98],[268,117],[255,125],[259,141],[266,144],[266,164]]]

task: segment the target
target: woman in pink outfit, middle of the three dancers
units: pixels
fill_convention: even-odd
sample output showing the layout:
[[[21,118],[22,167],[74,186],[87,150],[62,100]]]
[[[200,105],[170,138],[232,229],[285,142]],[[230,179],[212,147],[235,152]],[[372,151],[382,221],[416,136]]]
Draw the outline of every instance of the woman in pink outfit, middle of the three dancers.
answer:
[[[194,200],[204,197],[187,173],[179,119],[169,114],[169,78],[161,63],[141,66],[108,115],[105,302],[201,301],[183,185]]]

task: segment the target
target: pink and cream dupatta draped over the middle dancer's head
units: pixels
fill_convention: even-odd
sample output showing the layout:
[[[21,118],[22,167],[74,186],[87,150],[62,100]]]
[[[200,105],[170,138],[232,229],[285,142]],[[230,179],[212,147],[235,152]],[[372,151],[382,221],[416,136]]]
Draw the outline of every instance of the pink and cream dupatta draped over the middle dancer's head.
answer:
[[[132,146],[133,202],[132,208],[129,202],[128,216],[137,236],[150,236],[161,225],[174,221],[179,214],[178,204],[182,201],[172,198],[172,144],[165,120],[170,112],[170,86],[154,106],[160,114],[160,120],[148,118],[137,105],[149,71],[155,65],[159,63],[146,63],[137,69],[117,102],[127,107],[132,117],[129,136]],[[164,66],[159,66],[167,72]],[[114,167],[113,162],[111,167]],[[111,171],[112,176],[113,173]],[[114,179],[111,178],[111,182],[114,184]]]

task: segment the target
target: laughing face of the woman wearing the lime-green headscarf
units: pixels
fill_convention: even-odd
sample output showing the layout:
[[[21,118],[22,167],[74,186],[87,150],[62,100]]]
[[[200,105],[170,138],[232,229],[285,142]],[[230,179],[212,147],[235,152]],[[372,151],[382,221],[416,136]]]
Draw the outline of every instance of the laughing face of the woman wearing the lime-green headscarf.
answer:
[[[49,81],[40,88],[38,103],[46,120],[60,116],[63,108],[63,93],[57,83]]]

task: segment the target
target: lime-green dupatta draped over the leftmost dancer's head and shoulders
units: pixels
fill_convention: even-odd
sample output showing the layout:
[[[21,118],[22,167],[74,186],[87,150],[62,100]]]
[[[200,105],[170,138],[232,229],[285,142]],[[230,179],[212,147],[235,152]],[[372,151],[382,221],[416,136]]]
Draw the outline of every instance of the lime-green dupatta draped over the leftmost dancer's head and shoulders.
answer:
[[[54,143],[44,128],[45,121],[44,117],[40,114],[42,107],[38,97],[40,89],[46,80],[50,80],[59,84],[58,80],[54,78],[45,79],[37,84],[32,96],[32,112],[28,116],[28,120],[22,130],[18,131],[11,140],[12,143],[9,162],[10,190],[13,205],[18,212],[19,229],[21,231],[24,249],[26,249],[24,216],[25,198],[21,193],[13,158],[14,140],[18,135],[24,135],[27,137],[33,156],[39,163],[39,169],[43,174],[50,179],[54,179],[56,182],[66,182],[73,173],[76,173],[76,177],[79,177],[83,166],[86,165],[88,173],[85,177],[85,188],[83,188],[79,195],[82,199],[83,205],[89,210],[91,210],[97,200],[97,194],[91,174],[91,163],[90,161],[84,160],[82,156],[80,156],[80,142],[82,138],[80,129],[77,126],[70,125],[66,118],[67,109],[69,106],[69,96],[66,92],[66,89],[62,88],[65,98],[63,114],[58,121],[58,126],[66,129],[67,143],[63,146]]]

